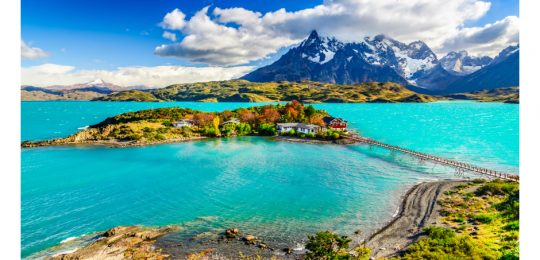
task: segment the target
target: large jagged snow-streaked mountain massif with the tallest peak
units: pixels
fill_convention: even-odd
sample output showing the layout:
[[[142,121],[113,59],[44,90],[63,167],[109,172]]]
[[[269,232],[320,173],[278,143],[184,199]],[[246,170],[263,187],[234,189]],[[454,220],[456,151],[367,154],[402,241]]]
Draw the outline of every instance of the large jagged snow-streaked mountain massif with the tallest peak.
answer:
[[[405,44],[377,35],[357,43],[343,43],[312,31],[306,40],[278,61],[245,75],[243,79],[314,80],[340,84],[393,81],[414,85],[437,64],[435,53],[421,41]]]

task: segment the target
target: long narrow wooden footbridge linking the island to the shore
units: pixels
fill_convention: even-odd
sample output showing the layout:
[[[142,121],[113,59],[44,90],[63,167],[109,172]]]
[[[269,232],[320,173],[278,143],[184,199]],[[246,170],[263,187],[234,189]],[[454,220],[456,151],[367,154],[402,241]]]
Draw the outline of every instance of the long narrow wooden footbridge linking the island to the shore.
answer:
[[[437,157],[437,156],[433,156],[433,155],[430,155],[430,154],[421,153],[421,152],[413,151],[413,150],[410,150],[410,149],[402,148],[402,147],[399,147],[399,146],[381,143],[379,141],[375,141],[373,139],[369,139],[369,138],[365,138],[365,137],[360,137],[360,136],[357,136],[357,135],[348,135],[348,136],[343,136],[343,137],[347,138],[347,139],[357,141],[357,142],[366,143],[366,144],[369,144],[369,145],[375,145],[375,146],[378,146],[378,147],[386,148],[386,149],[389,149],[391,151],[402,152],[402,153],[417,157],[420,160],[426,160],[426,161],[431,161],[431,162],[434,162],[434,163],[450,166],[450,167],[453,167],[454,169],[456,169],[456,173],[460,174],[460,175],[463,175],[466,172],[471,172],[471,173],[481,174],[481,175],[492,177],[492,178],[499,178],[499,179],[504,179],[504,180],[508,180],[508,181],[519,182],[519,176],[518,175],[503,173],[503,172],[499,172],[499,171],[494,171],[494,170],[474,166],[474,165],[467,164],[467,163],[462,163],[462,162],[458,162],[458,161],[454,161],[454,160],[449,160],[449,159],[445,159],[445,158],[442,158],[442,157]]]

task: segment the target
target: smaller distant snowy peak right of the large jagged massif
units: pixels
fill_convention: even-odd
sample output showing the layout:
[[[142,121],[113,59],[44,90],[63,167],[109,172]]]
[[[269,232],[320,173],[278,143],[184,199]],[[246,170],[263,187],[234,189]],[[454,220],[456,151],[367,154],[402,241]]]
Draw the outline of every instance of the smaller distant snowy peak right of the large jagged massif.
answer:
[[[490,64],[493,58],[488,56],[470,56],[467,51],[452,51],[440,59],[443,68],[457,75],[471,74]]]

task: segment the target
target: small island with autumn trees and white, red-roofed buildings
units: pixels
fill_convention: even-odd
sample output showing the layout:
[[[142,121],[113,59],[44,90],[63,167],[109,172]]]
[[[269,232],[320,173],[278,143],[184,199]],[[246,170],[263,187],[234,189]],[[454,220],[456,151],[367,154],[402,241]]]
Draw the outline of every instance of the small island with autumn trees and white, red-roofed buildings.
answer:
[[[89,126],[65,138],[25,141],[22,147],[55,145],[144,146],[203,138],[274,136],[281,140],[350,143],[347,121],[324,110],[287,104],[203,112],[189,108],[158,108],[128,112]]]

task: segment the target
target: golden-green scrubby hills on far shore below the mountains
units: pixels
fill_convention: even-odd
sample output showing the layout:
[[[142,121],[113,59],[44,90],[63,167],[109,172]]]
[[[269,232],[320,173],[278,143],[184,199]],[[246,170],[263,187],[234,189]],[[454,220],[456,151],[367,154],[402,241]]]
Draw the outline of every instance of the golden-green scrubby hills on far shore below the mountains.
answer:
[[[316,103],[432,102],[441,99],[419,94],[397,83],[338,85],[312,81],[249,82],[212,81],[171,85],[151,91],[121,91],[99,97],[98,101],[197,101],[197,102],[272,102]]]

